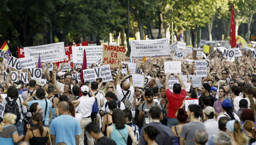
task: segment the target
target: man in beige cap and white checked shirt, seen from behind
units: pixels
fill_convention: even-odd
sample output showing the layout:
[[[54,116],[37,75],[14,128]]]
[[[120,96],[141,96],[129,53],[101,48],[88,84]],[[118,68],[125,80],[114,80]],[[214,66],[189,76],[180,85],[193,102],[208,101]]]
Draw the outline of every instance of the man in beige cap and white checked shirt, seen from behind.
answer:
[[[204,121],[206,132],[208,133],[208,139],[212,136],[217,135],[219,133],[218,122],[214,120],[215,109],[211,106],[208,106],[204,110],[205,118]]]

